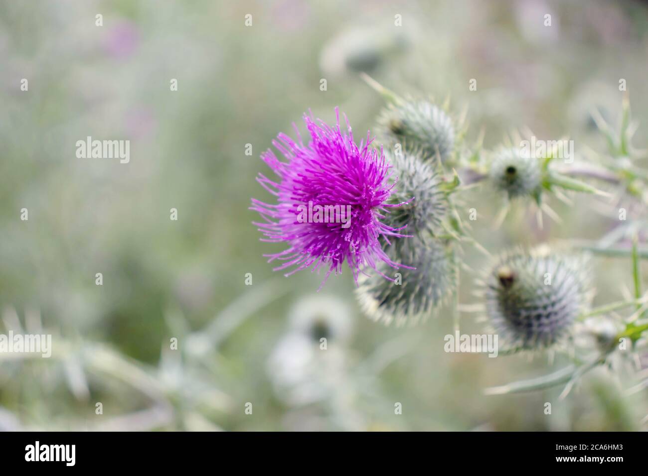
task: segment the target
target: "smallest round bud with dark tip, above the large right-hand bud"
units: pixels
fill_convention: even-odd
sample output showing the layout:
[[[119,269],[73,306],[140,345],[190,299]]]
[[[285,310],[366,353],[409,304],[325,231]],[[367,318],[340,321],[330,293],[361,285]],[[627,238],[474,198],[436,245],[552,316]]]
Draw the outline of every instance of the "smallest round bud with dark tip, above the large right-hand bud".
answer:
[[[509,198],[532,196],[540,187],[540,163],[520,148],[495,153],[489,172],[495,188]]]

